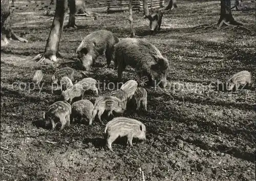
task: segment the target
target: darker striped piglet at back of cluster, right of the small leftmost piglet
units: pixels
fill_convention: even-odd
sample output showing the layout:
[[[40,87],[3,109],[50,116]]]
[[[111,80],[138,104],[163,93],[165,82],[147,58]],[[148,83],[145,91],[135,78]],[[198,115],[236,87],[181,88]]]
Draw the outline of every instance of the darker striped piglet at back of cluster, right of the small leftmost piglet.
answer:
[[[74,69],[72,69],[71,67],[63,67],[62,69],[59,69],[57,70],[53,76],[52,76],[52,82],[53,83],[58,83],[60,81],[60,79],[62,77],[65,77],[67,76],[68,78],[70,78],[70,80],[74,80],[74,74],[75,74],[75,71]]]

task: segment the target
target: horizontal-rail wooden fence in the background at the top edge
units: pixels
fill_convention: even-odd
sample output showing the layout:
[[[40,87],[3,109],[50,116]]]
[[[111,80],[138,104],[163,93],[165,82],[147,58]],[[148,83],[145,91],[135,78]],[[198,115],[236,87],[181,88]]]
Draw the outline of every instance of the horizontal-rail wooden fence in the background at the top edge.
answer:
[[[108,7],[108,13],[122,12],[129,10],[129,0],[103,0]],[[102,2],[103,3],[103,2]],[[164,0],[148,0],[148,9],[159,9],[164,7]],[[133,0],[132,2],[133,10],[143,10],[143,0]]]

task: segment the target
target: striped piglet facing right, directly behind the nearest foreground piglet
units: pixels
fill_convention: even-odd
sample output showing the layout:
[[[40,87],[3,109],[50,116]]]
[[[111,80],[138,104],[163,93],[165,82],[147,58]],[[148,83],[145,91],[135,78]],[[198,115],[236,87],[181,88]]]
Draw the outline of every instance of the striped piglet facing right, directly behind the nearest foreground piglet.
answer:
[[[113,115],[113,111],[118,114],[123,114],[125,105],[123,102],[114,96],[100,96],[95,100],[93,109],[93,119],[98,114],[98,119],[101,122],[101,115],[104,111],[108,112],[108,117]]]

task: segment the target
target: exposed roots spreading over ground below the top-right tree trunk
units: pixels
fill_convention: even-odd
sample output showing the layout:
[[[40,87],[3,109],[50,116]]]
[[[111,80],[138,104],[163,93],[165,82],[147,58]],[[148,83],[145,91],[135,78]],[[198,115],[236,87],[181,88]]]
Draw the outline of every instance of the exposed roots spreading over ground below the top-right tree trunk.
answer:
[[[239,31],[241,30],[243,33],[248,33],[248,34],[252,34],[252,31],[246,27],[243,26],[243,24],[241,22],[226,22],[225,20],[222,20],[220,22],[220,24],[204,24],[204,25],[199,25],[196,27],[191,28],[191,30],[187,31],[186,33],[190,33],[190,32],[199,32],[199,33],[206,33],[207,30],[211,30],[210,33],[212,32],[216,32],[216,31]]]

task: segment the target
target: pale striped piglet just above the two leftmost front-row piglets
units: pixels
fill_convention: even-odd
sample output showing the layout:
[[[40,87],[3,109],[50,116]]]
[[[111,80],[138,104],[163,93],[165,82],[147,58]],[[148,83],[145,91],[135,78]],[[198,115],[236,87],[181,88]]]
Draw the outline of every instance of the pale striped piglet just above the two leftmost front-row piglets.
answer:
[[[85,90],[82,88],[82,85],[75,84],[72,87],[69,87],[67,90],[62,91],[61,93],[61,99],[65,101],[69,101],[69,103],[72,103],[72,100],[75,97],[80,97],[83,99],[83,94]]]

